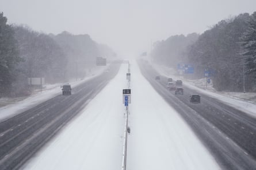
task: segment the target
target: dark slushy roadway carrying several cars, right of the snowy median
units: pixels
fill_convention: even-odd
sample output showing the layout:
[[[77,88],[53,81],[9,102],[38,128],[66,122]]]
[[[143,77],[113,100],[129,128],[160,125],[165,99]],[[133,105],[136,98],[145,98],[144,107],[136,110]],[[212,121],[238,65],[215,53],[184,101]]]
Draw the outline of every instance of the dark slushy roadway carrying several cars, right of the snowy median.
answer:
[[[228,104],[195,92],[184,85],[184,95],[175,95],[166,88],[167,77],[159,76],[147,62],[140,61],[143,76],[193,128],[202,143],[214,155],[221,169],[256,169],[256,120]],[[197,93],[200,104],[191,104],[189,96]]]

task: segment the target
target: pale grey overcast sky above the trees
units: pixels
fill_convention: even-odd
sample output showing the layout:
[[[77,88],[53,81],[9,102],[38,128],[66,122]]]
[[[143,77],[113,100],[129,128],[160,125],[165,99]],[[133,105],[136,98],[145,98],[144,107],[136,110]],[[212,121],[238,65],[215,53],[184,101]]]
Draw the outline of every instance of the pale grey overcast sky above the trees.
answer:
[[[89,34],[119,54],[139,54],[151,41],[203,33],[240,13],[256,11],[256,0],[0,0],[9,23],[36,31]]]

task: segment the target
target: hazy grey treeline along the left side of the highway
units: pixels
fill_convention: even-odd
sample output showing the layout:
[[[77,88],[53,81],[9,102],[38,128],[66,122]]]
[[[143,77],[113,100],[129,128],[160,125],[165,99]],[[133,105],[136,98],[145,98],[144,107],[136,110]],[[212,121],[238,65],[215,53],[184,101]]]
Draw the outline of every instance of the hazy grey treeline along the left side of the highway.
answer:
[[[28,77],[44,77],[48,83],[83,78],[95,66],[96,57],[115,55],[89,35],[39,33],[8,25],[0,13],[0,97],[29,94]]]

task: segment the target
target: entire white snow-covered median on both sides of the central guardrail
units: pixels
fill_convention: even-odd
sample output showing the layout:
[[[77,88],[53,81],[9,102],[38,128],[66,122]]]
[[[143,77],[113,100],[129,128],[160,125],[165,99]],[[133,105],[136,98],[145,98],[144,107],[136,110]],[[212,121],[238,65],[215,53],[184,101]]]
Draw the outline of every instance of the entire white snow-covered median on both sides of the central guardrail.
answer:
[[[121,169],[127,68],[22,169]],[[131,79],[127,169],[220,169],[135,62]]]

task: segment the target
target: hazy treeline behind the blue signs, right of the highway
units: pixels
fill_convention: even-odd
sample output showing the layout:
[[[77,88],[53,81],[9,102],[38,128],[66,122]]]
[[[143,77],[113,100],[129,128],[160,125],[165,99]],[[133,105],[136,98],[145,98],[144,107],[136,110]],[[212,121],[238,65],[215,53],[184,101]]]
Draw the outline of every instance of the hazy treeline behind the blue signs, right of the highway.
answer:
[[[193,38],[170,37],[152,51],[155,62],[177,68],[179,62],[194,66],[194,77],[204,77],[204,69],[215,70],[217,90],[256,92],[256,12],[220,21]]]

